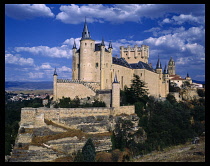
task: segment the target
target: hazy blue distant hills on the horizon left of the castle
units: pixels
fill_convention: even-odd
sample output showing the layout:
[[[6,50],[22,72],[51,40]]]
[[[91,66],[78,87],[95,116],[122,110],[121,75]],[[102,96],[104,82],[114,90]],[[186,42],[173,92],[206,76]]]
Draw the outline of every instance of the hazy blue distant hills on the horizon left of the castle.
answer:
[[[18,81],[6,81],[5,90],[41,90],[41,89],[53,89],[52,81],[43,82],[18,82]]]

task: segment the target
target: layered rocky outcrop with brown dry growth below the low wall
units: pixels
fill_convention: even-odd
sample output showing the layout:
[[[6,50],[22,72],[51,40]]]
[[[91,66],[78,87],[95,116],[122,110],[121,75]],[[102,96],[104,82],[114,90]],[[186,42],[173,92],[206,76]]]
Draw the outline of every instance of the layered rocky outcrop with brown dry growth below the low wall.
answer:
[[[88,138],[93,140],[96,152],[111,150],[112,131],[122,119],[132,123],[130,132],[139,129],[135,114],[63,117],[59,122],[42,118],[40,115],[35,123],[20,124],[10,162],[48,162],[71,156],[82,149]]]

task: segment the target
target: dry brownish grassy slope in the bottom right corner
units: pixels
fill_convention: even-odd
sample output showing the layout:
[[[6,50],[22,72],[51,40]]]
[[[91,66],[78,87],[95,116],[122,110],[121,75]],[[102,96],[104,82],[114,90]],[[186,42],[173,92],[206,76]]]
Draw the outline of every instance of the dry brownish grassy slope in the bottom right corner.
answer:
[[[205,162],[205,137],[198,144],[187,142],[164,151],[154,151],[131,162]]]

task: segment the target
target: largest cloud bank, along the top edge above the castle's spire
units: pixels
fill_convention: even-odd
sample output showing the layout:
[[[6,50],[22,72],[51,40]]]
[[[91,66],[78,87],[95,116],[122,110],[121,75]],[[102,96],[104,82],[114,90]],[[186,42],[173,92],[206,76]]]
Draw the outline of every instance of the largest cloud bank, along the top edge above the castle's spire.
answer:
[[[87,17],[87,22],[90,23],[103,23],[104,21],[111,23],[139,22],[143,17],[160,18],[172,12],[183,14],[183,16],[193,12],[195,16],[200,16],[204,14],[204,7],[202,4],[71,4],[62,5],[60,7],[61,12],[56,15],[56,19],[66,24],[82,23],[85,17]],[[175,19],[191,19],[181,17]],[[170,19],[164,19],[165,23],[170,21]]]

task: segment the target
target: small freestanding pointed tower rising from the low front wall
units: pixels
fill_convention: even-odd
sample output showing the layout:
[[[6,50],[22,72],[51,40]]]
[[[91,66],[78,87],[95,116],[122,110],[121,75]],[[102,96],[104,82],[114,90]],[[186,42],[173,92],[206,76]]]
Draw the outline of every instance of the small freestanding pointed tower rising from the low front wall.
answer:
[[[112,83],[112,107],[120,107],[120,83],[117,81],[116,74]]]

